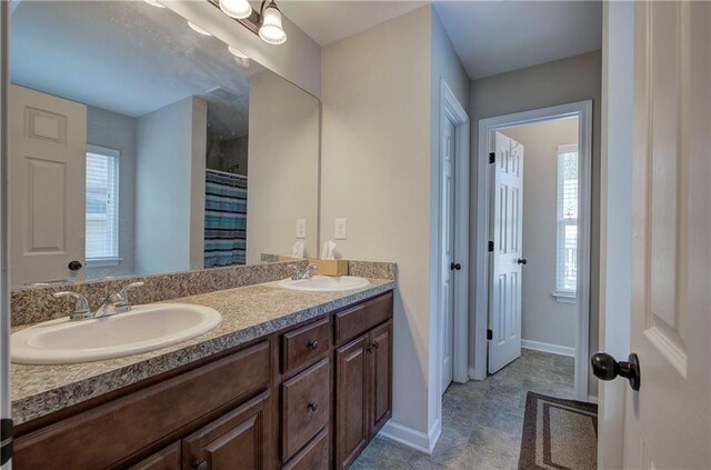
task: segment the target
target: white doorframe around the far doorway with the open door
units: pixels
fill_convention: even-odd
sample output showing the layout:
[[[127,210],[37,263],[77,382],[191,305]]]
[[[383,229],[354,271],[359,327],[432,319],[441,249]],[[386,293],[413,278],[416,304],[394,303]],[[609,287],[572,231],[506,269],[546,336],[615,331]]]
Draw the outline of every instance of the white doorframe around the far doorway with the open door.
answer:
[[[491,136],[499,129],[529,124],[551,119],[579,117],[578,151],[580,157],[579,180],[579,243],[578,243],[578,331],[575,332],[575,377],[574,398],[588,399],[588,356],[590,349],[590,221],[592,209],[592,100],[578,101],[549,108],[533,109],[511,114],[481,119],[479,121],[479,144],[477,151],[477,257],[475,308],[474,308],[474,361],[471,378],[487,378],[489,321],[489,200],[491,181],[489,178],[489,149]]]

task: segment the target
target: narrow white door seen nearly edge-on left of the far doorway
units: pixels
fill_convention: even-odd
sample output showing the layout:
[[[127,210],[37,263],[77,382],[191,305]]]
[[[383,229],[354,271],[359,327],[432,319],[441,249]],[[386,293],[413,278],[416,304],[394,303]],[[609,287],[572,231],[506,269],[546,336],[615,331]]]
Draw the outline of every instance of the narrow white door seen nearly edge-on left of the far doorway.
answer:
[[[442,201],[440,218],[442,227],[442,257],[441,272],[442,284],[441,307],[442,314],[442,393],[452,381],[454,371],[454,136],[455,128],[452,121],[442,119],[441,130],[441,163],[442,181],[440,184]]]

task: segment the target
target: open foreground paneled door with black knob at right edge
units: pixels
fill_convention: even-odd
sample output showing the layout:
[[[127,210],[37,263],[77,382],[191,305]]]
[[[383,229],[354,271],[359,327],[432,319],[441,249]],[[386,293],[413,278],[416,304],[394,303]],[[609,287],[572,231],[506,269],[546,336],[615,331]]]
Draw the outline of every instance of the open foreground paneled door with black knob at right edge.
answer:
[[[631,348],[641,388],[627,393],[625,468],[709,469],[711,3],[640,2],[634,23]]]

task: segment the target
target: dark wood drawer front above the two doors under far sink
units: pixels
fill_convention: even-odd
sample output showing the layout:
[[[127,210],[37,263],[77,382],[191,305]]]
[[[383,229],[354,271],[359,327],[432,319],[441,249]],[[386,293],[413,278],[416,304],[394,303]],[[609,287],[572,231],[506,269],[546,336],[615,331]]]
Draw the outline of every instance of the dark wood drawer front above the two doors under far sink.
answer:
[[[340,346],[392,317],[392,292],[333,314],[336,344]]]

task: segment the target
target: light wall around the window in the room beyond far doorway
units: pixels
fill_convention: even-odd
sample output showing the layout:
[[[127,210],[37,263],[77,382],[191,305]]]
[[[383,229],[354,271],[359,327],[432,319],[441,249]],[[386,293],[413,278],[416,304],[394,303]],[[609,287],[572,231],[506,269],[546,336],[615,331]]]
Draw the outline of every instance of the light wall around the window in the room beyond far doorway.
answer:
[[[558,147],[578,143],[578,118],[502,131],[523,144],[521,339],[575,347],[578,306],[555,301]]]

